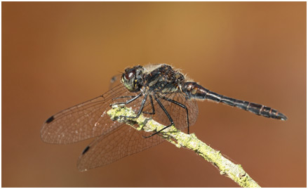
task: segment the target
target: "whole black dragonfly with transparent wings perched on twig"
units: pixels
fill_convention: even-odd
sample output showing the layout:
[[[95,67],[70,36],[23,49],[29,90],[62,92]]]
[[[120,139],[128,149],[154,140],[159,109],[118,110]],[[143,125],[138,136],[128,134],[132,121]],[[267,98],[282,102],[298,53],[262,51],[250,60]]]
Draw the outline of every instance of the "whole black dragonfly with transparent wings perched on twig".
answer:
[[[56,113],[41,128],[41,139],[46,143],[69,144],[95,138],[79,156],[79,171],[105,166],[162,143],[160,133],[169,126],[187,128],[189,133],[198,116],[197,100],[224,103],[262,117],[288,119],[272,107],[210,91],[166,64],[128,67],[112,81],[114,87],[106,93]],[[137,131],[110,119],[107,111],[113,105],[131,107],[135,117],[152,117],[166,127],[151,134]]]

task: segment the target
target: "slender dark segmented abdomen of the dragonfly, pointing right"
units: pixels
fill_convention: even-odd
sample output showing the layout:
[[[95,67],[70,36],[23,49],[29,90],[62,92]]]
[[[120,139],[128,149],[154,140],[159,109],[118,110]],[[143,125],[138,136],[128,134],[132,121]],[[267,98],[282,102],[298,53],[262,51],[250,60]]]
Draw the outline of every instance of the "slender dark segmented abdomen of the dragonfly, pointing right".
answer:
[[[222,96],[204,88],[203,86],[195,82],[186,82],[185,84],[183,84],[182,92],[185,93],[188,98],[209,99],[217,103],[224,103],[234,107],[239,107],[242,110],[253,112],[255,115],[262,115],[264,117],[281,119],[283,121],[288,119],[285,115],[272,107],[267,107],[265,105],[260,105],[257,103],[250,103],[248,101],[237,100],[235,98]]]

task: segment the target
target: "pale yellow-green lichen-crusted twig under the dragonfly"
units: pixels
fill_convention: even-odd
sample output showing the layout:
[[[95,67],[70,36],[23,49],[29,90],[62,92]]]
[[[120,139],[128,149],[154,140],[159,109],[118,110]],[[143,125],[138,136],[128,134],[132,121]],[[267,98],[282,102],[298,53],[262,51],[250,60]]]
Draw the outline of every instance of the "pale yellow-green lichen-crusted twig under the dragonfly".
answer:
[[[147,132],[155,132],[163,129],[166,126],[155,122],[149,117],[140,115],[138,118],[124,118],[121,116],[134,117],[135,112],[128,107],[118,107],[114,105],[111,110],[107,112],[111,119],[118,122],[125,122],[131,126],[138,124],[134,129],[138,131],[143,130]],[[231,178],[234,182],[238,183],[241,187],[257,188],[260,187],[253,178],[251,178],[241,167],[240,164],[234,164],[229,159],[225,158],[220,151],[210,148],[200,141],[194,133],[186,134],[176,129],[175,126],[170,126],[168,129],[164,129],[159,133],[159,136],[166,139],[170,143],[173,143],[178,148],[187,148],[194,150],[198,155],[206,159],[206,161],[212,163],[220,170],[220,174]],[[145,139],[146,140],[146,139]]]

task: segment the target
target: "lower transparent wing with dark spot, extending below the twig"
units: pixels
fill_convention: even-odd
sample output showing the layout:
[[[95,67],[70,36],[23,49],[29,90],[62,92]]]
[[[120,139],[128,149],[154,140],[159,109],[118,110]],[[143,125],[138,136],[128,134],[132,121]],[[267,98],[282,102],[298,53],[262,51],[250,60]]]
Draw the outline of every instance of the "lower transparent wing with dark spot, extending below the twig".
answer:
[[[112,133],[103,134],[88,145],[79,156],[77,162],[79,171],[110,164],[164,141],[158,135],[150,138],[143,138],[142,135],[147,136],[149,133],[137,131],[128,125],[118,127]]]

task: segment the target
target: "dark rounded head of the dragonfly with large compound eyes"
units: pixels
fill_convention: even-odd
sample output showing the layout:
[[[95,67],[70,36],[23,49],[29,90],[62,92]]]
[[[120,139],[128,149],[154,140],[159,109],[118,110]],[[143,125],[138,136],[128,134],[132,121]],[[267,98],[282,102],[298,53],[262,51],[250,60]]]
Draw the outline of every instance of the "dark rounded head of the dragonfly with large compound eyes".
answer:
[[[130,92],[138,92],[142,87],[144,68],[141,65],[126,68],[122,74],[121,82]]]

